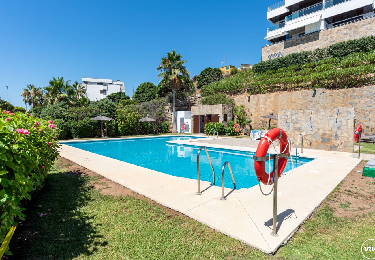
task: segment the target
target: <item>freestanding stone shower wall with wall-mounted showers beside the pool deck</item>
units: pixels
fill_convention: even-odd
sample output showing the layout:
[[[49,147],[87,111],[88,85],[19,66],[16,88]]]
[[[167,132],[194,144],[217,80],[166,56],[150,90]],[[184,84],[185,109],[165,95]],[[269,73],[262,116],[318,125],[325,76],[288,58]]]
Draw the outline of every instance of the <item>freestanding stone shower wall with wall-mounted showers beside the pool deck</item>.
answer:
[[[302,133],[303,148],[353,152],[353,107],[279,110],[278,127],[291,138],[292,147]]]

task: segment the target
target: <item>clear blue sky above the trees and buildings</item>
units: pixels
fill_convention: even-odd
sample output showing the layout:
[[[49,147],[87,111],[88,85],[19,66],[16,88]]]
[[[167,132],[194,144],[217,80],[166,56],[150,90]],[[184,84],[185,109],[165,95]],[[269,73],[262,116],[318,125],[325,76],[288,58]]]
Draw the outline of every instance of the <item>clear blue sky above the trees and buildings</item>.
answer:
[[[156,68],[175,49],[191,77],[206,67],[260,62],[265,1],[1,1],[0,96],[25,106],[27,84],[52,77],[125,82],[132,95],[159,83]],[[82,82],[81,82],[82,83]]]

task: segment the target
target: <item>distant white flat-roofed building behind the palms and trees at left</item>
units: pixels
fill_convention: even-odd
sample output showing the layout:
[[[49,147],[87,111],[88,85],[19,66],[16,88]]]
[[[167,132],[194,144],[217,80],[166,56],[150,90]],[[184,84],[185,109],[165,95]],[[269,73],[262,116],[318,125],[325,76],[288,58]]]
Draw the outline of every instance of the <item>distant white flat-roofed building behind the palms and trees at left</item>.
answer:
[[[86,87],[86,97],[91,101],[100,100],[115,92],[124,92],[124,82],[111,79],[82,78],[83,85]]]

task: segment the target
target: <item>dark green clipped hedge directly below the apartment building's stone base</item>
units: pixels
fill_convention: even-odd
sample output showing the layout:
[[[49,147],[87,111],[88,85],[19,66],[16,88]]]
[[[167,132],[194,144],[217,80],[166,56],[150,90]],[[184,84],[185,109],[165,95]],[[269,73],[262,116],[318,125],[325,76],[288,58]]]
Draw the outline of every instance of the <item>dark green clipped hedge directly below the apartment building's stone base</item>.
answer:
[[[284,57],[278,57],[267,61],[261,61],[254,64],[252,70],[254,73],[265,73],[266,71],[276,71],[279,68],[287,68],[292,65],[303,65],[309,62],[317,62],[326,58],[341,58],[351,53],[365,52],[375,50],[375,36],[366,36],[359,39],[353,39],[324,48],[317,48],[313,51],[302,51],[291,53]]]

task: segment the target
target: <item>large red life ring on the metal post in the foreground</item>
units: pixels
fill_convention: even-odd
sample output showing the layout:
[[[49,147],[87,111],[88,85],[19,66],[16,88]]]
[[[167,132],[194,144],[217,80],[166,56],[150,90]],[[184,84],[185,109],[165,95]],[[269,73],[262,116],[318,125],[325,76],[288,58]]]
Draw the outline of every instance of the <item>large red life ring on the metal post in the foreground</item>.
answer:
[[[258,157],[267,156],[267,151],[268,151],[268,148],[269,148],[269,140],[266,138],[266,136],[272,141],[279,140],[280,151],[282,152],[282,151],[285,150],[283,153],[289,153],[289,149],[287,148],[287,146],[288,146],[288,136],[284,132],[284,130],[282,130],[281,128],[273,128],[273,129],[269,130],[266,133],[266,135],[264,135],[264,136],[265,137],[258,144],[258,148],[257,148],[257,151],[255,152],[255,156],[258,156]],[[270,144],[270,145],[272,145],[272,144]],[[282,172],[285,169],[285,166],[287,166],[287,162],[288,162],[288,158],[280,158],[279,159],[278,177],[281,176]],[[257,175],[258,181],[267,185],[267,182],[269,180],[269,176],[268,176],[268,173],[266,172],[266,170],[264,169],[264,163],[265,162],[255,161],[254,167],[255,167],[255,174]],[[271,177],[270,177],[270,180],[271,180],[271,178],[273,177],[273,171],[271,171],[270,175],[271,175]]]

